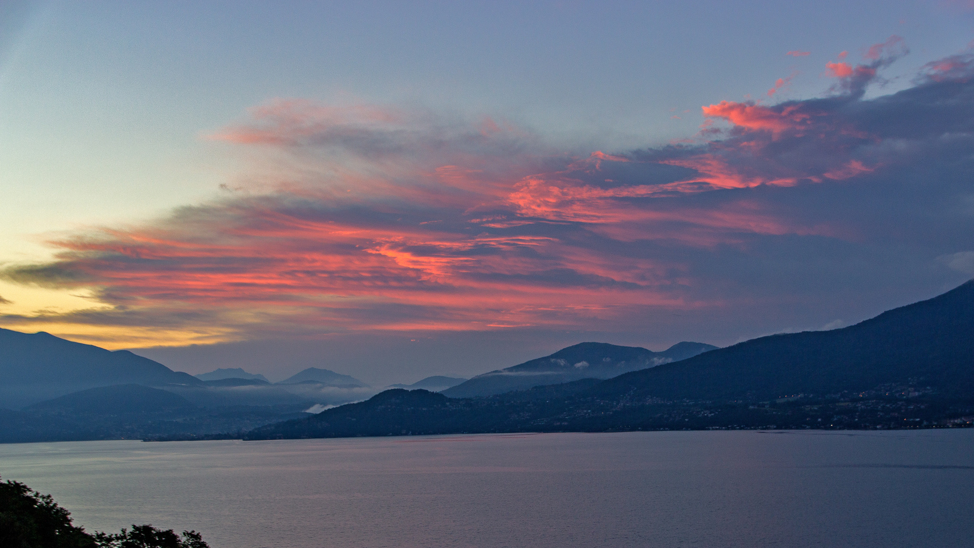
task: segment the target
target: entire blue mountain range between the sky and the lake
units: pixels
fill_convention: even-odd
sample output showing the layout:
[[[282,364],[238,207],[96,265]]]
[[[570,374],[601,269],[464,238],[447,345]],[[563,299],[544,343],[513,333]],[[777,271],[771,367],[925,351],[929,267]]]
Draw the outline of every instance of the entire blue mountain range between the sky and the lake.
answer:
[[[0,344],[0,406],[23,408],[0,410],[6,442],[974,420],[974,281],[841,330],[663,352],[583,342],[469,380],[432,376],[378,395],[318,368],[277,384],[240,369],[203,380],[48,333],[0,330]]]

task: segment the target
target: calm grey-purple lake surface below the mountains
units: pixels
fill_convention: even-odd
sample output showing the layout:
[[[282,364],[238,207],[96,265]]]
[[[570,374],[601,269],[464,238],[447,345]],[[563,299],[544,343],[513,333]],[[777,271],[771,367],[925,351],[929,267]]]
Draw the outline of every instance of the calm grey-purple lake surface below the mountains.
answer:
[[[213,548],[974,545],[974,430],[19,444],[0,475]]]

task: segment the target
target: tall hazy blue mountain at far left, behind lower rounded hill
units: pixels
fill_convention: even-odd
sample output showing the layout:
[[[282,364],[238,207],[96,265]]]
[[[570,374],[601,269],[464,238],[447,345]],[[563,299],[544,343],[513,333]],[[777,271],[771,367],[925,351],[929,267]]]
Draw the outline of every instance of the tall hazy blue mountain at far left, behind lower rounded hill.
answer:
[[[0,408],[114,384],[198,386],[203,381],[128,350],[112,352],[50,333],[0,329]]]

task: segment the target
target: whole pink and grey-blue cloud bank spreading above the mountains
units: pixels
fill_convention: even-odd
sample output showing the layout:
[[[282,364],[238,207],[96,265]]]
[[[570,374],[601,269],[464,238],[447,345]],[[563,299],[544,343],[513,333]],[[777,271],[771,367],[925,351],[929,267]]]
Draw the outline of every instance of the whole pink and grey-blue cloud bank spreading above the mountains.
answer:
[[[723,100],[696,136],[629,151],[558,150],[490,118],[274,99],[206,136],[252,159],[223,198],[79,231],[51,243],[54,260],[3,270],[96,306],[0,323],[186,344],[633,331],[688,313],[700,331],[684,338],[732,342],[782,307],[823,325],[916,300],[971,272],[974,57],[865,98],[907,53],[892,37],[861,63],[830,62],[826,97]],[[167,343],[139,333],[117,344]]]

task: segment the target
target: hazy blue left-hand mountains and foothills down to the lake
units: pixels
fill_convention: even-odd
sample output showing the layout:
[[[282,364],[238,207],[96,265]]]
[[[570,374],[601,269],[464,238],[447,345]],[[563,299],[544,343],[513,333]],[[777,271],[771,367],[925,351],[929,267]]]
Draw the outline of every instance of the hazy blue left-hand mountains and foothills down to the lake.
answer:
[[[357,387],[203,381],[128,351],[0,330],[0,443],[162,439],[239,432],[361,400]]]

